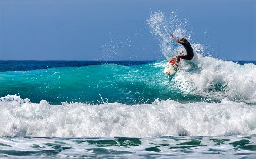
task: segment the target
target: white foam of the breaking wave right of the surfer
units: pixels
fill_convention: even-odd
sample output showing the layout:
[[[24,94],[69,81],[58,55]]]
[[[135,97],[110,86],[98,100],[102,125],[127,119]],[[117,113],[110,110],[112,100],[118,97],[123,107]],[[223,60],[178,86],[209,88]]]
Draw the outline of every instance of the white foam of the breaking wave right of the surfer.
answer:
[[[182,92],[211,99],[256,103],[256,65],[239,65],[196,54],[181,60],[174,83]]]

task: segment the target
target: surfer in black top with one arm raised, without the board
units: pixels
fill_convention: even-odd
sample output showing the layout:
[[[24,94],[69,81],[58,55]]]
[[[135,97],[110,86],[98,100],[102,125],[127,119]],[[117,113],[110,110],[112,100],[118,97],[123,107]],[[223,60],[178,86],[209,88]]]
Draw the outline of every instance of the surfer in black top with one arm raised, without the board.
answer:
[[[190,43],[188,42],[188,40],[185,37],[181,37],[181,40],[178,40],[176,37],[173,36],[173,34],[170,34],[176,41],[177,43],[182,44],[186,51],[187,51],[187,55],[181,55],[184,53],[184,51],[179,51],[180,55],[177,55],[177,63],[175,64],[176,67],[178,67],[178,63],[180,62],[180,58],[181,59],[185,59],[185,60],[192,60],[192,58],[194,57],[194,52],[193,49],[190,45]]]

